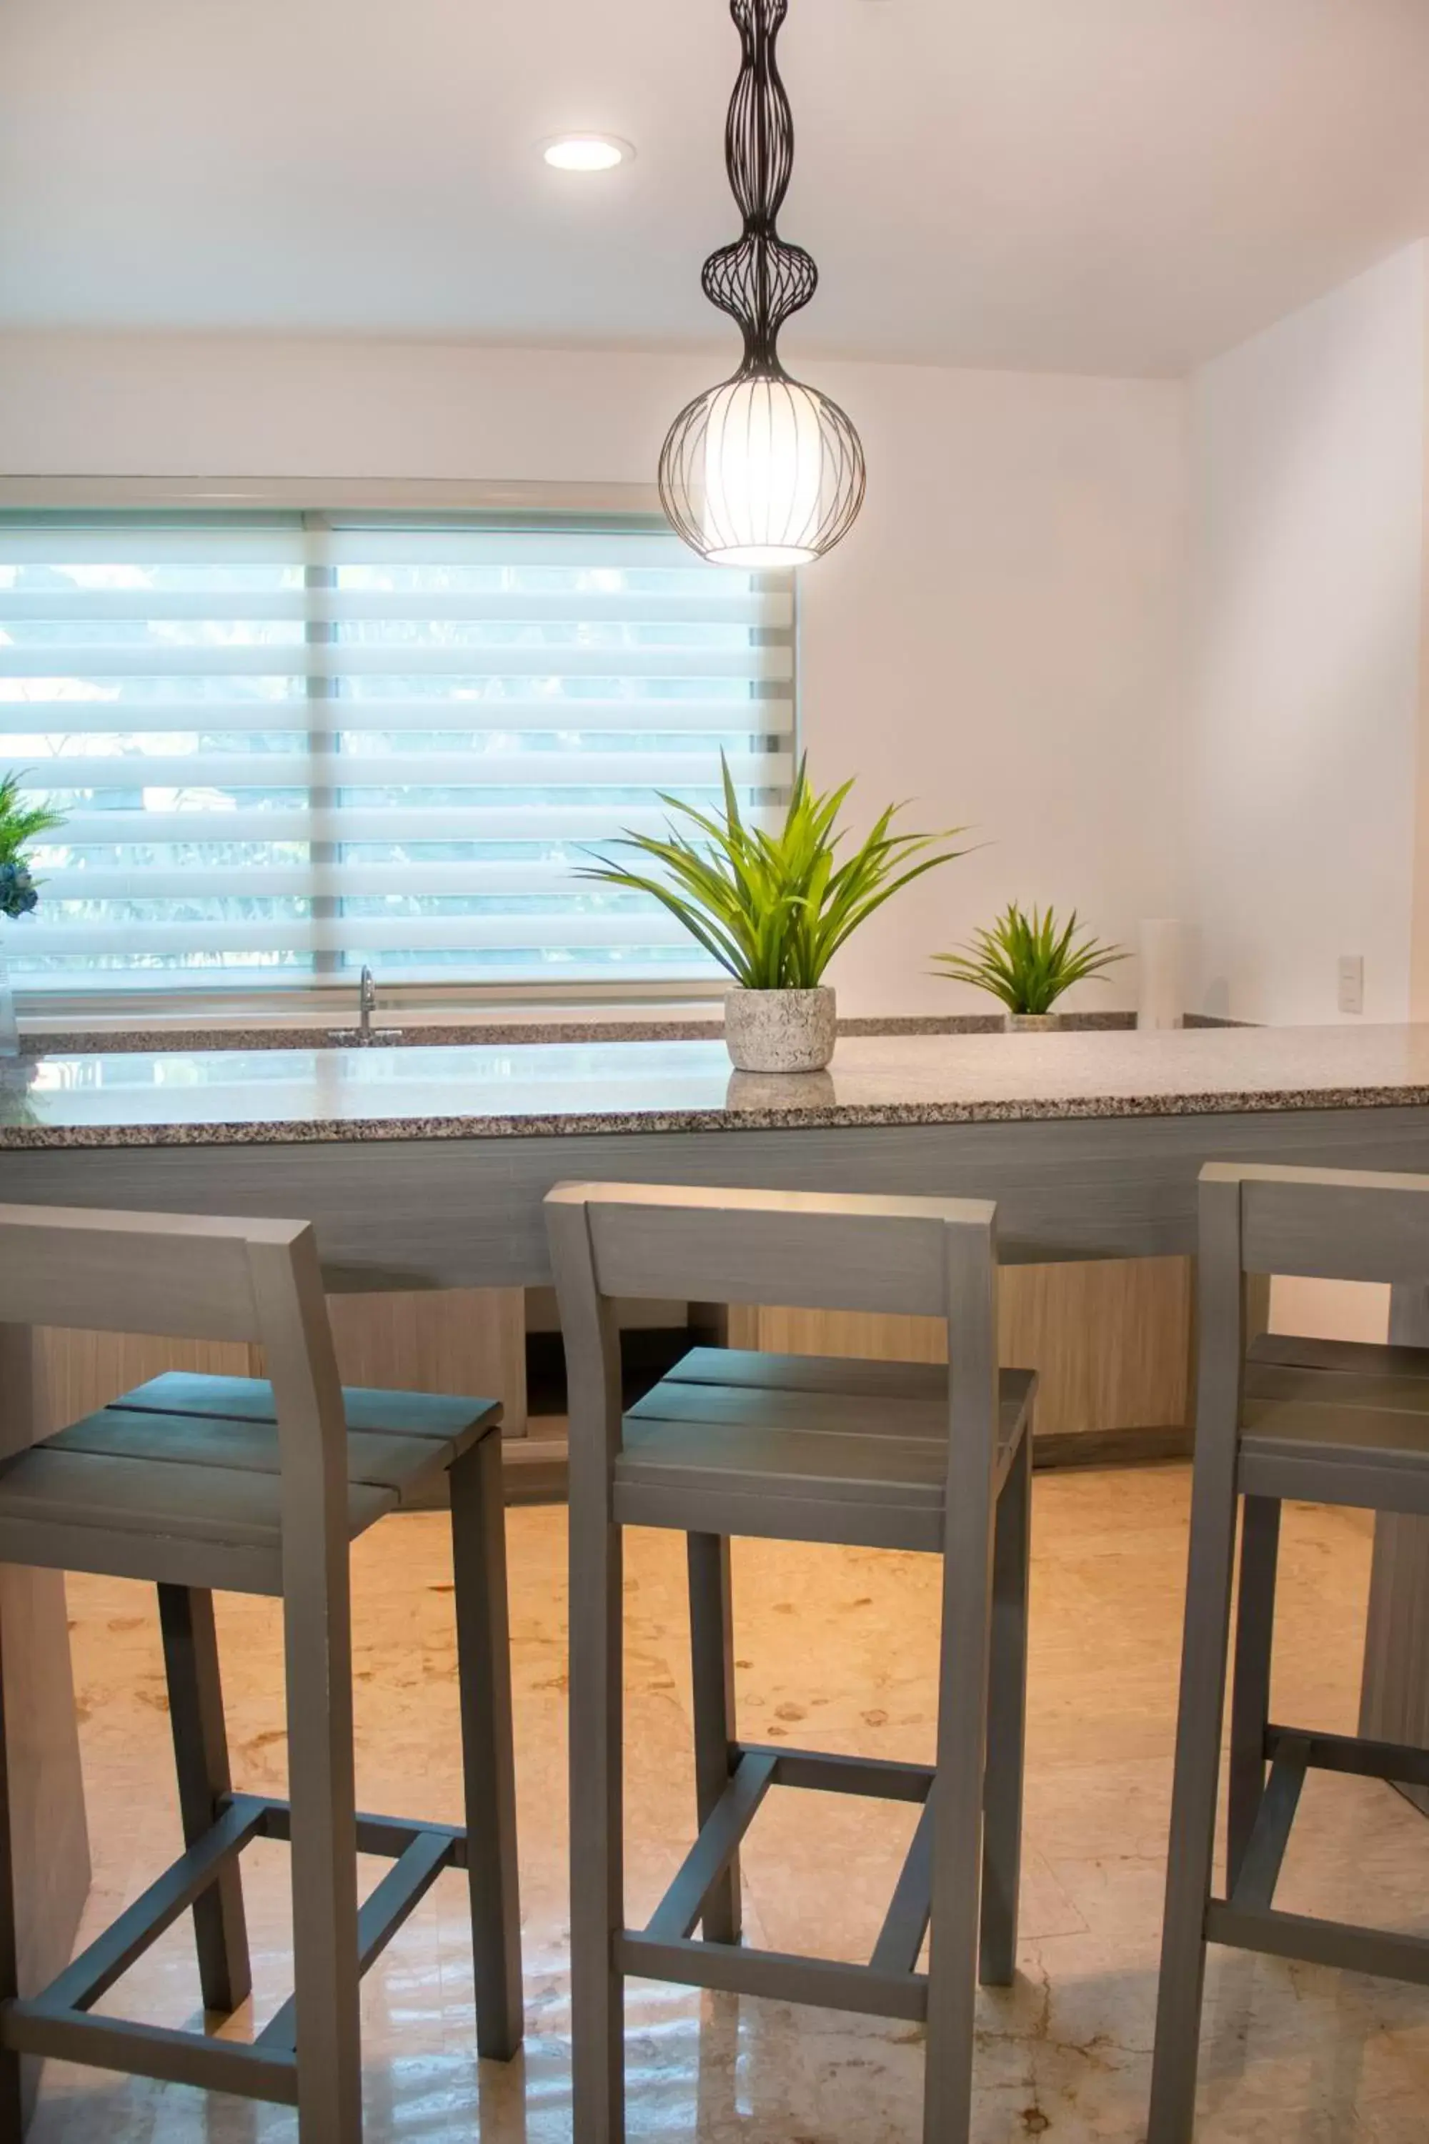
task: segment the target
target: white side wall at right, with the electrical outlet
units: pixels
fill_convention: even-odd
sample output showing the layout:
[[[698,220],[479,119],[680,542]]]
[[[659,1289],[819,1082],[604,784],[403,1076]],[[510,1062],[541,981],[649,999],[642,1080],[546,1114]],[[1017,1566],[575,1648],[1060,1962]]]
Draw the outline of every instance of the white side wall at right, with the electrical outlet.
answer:
[[[1410,1010],[1425,247],[1191,379],[1187,870],[1200,1006]]]

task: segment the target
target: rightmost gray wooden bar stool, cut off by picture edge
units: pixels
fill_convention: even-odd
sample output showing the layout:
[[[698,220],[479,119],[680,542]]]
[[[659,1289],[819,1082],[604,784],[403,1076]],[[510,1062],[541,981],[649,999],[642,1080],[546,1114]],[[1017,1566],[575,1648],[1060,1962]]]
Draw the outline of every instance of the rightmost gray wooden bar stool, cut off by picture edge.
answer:
[[[1270,1722],[1281,1499],[1429,1514],[1429,1353],[1260,1336],[1245,1276],[1429,1278],[1429,1177],[1210,1164],[1200,1177],[1191,1563],[1148,2144],[1189,2144],[1206,1945],[1429,1983],[1429,1940],[1275,1908],[1309,1769],[1429,1786],[1429,1752]],[[1210,1889],[1240,1520],[1228,1895]],[[1270,1767],[1266,1777],[1266,1765]]]

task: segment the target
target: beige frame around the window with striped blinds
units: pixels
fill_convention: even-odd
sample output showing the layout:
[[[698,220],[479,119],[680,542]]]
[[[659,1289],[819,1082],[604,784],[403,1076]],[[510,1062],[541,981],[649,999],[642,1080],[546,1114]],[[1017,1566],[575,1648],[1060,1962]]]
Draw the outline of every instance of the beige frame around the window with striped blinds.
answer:
[[[482,515],[495,523],[508,519],[559,532],[591,523],[651,523],[666,527],[660,493],[653,485],[589,485],[589,482],[493,482],[465,478],[214,478],[214,476],[0,476],[0,508],[32,512],[296,512],[326,519],[345,515],[379,517],[452,517]],[[799,690],[799,577],[776,577],[793,605],[793,733],[788,750],[801,753]],[[383,980],[383,1014],[443,1012],[501,1014],[533,1012],[613,1012],[641,1006],[713,1008],[728,982],[722,976],[666,980],[529,980],[529,982],[396,982]],[[195,1027],[231,1025],[311,1025],[324,1018],[332,1025],[354,1025],[356,984],[349,973],[304,976],[302,982],[251,984],[184,984],[129,986],[122,991],[30,991],[15,982],[17,1014],[32,1025],[73,1027],[86,1018],[114,1029],[146,1027],[154,1021]]]

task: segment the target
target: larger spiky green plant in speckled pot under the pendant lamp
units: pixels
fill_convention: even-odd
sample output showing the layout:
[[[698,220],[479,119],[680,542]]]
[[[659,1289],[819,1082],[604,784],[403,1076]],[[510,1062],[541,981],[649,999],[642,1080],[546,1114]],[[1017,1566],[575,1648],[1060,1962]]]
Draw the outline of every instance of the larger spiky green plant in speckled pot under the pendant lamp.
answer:
[[[741,817],[724,757],[720,772],[722,813],[662,793],[683,828],[619,836],[617,847],[634,849],[649,870],[596,855],[581,877],[649,894],[735,978],[724,1040],[737,1070],[818,1072],[836,1036],[833,991],[821,982],[829,961],[891,894],[960,855],[938,847],[960,830],[896,834],[902,806],[891,804],[840,860],[838,815],[853,783],[821,793],[801,759],[784,823],[765,834]]]

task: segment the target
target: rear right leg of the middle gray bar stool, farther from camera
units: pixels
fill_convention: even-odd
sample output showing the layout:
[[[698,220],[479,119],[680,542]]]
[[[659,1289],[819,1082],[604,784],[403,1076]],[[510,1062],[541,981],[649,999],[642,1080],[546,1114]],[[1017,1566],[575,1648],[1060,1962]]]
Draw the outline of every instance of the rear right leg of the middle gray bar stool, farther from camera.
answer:
[[[979,1979],[1009,1987],[1018,1970],[1022,1880],[1022,1752],[1026,1741],[1026,1582],[1033,1524],[1033,1430],[998,1497],[992,1546],[992,1657],[983,1786],[983,1919]]]

